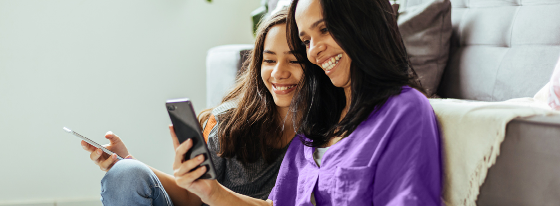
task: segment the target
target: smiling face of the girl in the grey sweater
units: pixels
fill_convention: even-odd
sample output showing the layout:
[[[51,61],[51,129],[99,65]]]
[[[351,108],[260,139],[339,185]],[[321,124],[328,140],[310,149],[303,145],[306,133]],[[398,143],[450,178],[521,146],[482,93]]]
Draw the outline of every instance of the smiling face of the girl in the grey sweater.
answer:
[[[292,54],[286,39],[286,24],[270,28],[264,39],[260,76],[272,93],[274,103],[287,109],[304,71]]]

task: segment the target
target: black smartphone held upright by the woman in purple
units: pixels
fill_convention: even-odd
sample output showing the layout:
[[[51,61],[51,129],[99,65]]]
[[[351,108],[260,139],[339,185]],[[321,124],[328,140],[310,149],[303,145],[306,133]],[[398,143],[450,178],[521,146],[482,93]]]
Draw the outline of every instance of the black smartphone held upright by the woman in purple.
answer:
[[[171,118],[171,123],[179,139],[179,143],[183,143],[187,139],[193,140],[193,147],[185,153],[184,160],[190,160],[199,154],[203,154],[204,162],[198,167],[206,167],[206,174],[200,176],[198,179],[216,179],[214,163],[212,162],[212,158],[210,158],[210,151],[208,150],[208,146],[206,146],[202,131],[200,131],[200,124],[198,123],[197,115],[194,113],[192,102],[190,102],[188,98],[172,99],[167,100],[165,106],[167,107],[167,113],[169,113],[169,118]]]

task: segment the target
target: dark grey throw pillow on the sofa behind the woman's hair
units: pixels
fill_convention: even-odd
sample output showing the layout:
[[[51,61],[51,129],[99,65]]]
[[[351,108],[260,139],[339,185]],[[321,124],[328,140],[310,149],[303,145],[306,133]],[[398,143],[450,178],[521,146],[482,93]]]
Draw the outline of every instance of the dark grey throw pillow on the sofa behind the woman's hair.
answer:
[[[451,2],[433,0],[401,8],[397,22],[414,71],[428,95],[435,95],[449,58]]]

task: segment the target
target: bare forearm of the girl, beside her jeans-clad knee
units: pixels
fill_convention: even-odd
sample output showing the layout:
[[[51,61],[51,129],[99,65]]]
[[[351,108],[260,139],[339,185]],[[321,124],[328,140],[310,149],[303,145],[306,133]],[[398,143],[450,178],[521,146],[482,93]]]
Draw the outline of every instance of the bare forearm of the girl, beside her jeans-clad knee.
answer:
[[[156,174],[157,178],[160,179],[162,186],[164,186],[165,191],[171,198],[171,201],[176,206],[200,206],[202,205],[202,200],[184,188],[179,187],[175,182],[175,177],[173,175],[166,174],[165,172],[159,171],[148,165],[150,169]]]

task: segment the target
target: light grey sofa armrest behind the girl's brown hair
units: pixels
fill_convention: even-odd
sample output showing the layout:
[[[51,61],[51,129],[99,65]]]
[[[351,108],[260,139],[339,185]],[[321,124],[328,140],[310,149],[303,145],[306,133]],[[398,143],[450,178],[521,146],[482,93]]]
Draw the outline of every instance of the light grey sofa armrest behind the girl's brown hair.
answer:
[[[237,72],[253,44],[216,46],[206,55],[206,107],[220,104],[222,97],[235,83]]]

